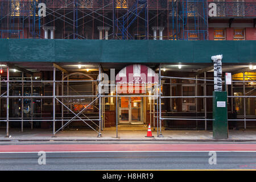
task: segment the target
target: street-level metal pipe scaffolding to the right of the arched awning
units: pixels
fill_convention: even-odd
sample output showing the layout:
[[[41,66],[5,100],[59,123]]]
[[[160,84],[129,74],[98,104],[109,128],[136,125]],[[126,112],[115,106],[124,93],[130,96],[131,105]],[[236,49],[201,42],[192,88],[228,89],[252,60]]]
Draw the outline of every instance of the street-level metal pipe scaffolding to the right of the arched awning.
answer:
[[[164,65],[162,65],[164,67]],[[246,75],[246,72],[242,72],[242,77],[234,77],[232,78],[232,85],[226,85],[225,81],[222,81],[222,86],[224,90],[228,93],[228,107],[230,107],[230,110],[228,112],[228,121],[229,121],[229,127],[232,127],[232,122],[236,122],[236,127],[243,127],[243,129],[246,129],[246,122],[255,122],[255,80],[254,77],[255,72],[252,72],[253,74]],[[160,72],[159,72],[160,74]],[[203,77],[202,77],[203,75]],[[201,76],[201,77],[200,77]],[[187,124],[186,129],[204,129],[208,130],[212,128],[212,122],[213,122],[213,115],[212,111],[208,109],[209,102],[212,104],[212,94],[209,95],[207,93],[207,87],[213,86],[213,77],[207,77],[207,72],[201,72],[200,74],[197,74],[195,77],[171,77],[171,76],[159,76],[160,79],[166,81],[162,81],[162,86],[167,87],[170,89],[170,95],[163,95],[163,93],[159,92],[159,107],[162,106],[162,102],[167,102],[166,99],[170,99],[170,107],[171,111],[166,112],[164,111],[162,115],[160,108],[159,111],[159,120],[161,121],[168,121],[168,124],[166,125],[166,128],[171,129],[180,129],[182,126],[182,122],[189,122],[192,121],[191,124]],[[241,80],[242,78],[242,80]],[[195,95],[193,96],[177,96],[172,93],[173,86],[177,85],[184,85],[182,82],[176,82],[175,84],[172,83],[172,80],[184,80],[184,81],[192,81],[188,82],[185,85],[192,86],[195,88]],[[225,80],[225,77],[223,78]],[[203,87],[201,96],[199,96],[199,86]],[[234,91],[237,90],[237,91]],[[181,91],[182,92],[182,91]],[[238,92],[238,93],[237,93]],[[183,94],[183,93],[182,93]],[[195,108],[193,111],[190,111],[189,113],[191,115],[187,115],[188,112],[185,111],[177,111],[173,110],[172,102],[173,100],[180,100],[184,103],[185,99],[192,99],[194,100]],[[235,101],[236,100],[236,101]],[[199,109],[198,103],[203,103],[203,110]],[[251,107],[249,109],[249,107]],[[180,115],[182,114],[182,115]],[[154,114],[155,115],[155,114]],[[180,124],[177,124],[177,122],[180,122]],[[238,126],[237,122],[240,122],[240,125]],[[243,123],[243,125],[241,125]],[[234,126],[233,126],[234,127]],[[184,129],[184,127],[183,127]]]

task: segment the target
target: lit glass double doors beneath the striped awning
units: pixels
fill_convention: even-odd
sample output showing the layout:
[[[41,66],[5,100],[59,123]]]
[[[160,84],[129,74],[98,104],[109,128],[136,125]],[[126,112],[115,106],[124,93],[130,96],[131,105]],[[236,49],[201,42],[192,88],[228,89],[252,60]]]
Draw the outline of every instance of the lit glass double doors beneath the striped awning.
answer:
[[[143,97],[119,97],[118,123],[143,124]]]

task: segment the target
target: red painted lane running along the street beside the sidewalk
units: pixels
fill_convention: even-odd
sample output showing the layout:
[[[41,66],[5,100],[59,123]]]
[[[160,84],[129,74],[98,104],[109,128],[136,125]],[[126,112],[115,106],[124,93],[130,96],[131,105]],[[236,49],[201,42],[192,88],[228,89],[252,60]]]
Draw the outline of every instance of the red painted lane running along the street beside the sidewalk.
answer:
[[[28,144],[0,145],[0,152],[256,151],[256,144]]]

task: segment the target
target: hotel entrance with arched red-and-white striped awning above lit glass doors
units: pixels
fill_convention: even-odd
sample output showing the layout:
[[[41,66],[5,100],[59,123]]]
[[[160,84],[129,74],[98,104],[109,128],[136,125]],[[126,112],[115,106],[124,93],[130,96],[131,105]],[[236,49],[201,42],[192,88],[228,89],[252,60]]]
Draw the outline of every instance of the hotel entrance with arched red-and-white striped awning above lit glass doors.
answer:
[[[133,64],[121,69],[115,76],[117,84],[117,120],[120,125],[150,123],[148,95],[154,95],[159,78],[146,65]]]

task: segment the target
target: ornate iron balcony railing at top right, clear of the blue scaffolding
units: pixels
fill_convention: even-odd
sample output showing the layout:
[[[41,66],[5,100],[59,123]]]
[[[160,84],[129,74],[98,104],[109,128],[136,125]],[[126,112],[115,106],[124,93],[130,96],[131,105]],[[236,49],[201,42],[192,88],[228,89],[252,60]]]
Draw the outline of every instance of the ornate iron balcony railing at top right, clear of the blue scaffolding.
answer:
[[[214,4],[210,4],[214,3]],[[210,5],[210,7],[209,7]],[[209,2],[208,12],[213,12],[213,16],[256,16],[256,2]],[[215,12],[214,12],[215,11]]]

